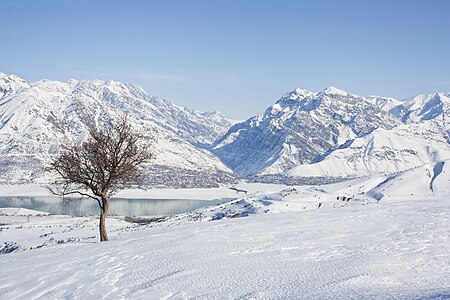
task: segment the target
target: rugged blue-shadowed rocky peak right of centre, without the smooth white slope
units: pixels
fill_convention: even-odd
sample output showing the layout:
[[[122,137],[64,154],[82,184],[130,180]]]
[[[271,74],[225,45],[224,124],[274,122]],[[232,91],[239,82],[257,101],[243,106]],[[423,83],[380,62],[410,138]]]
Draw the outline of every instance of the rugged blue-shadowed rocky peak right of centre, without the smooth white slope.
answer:
[[[241,175],[277,174],[308,164],[356,137],[401,124],[373,99],[334,87],[295,89],[263,115],[234,125],[210,150]]]

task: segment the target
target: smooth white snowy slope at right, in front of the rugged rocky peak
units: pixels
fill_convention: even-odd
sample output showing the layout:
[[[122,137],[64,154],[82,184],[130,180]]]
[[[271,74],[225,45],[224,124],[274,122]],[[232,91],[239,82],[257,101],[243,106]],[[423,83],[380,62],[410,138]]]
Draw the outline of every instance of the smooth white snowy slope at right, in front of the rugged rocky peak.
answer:
[[[286,174],[297,177],[358,177],[395,173],[428,162],[450,158],[450,145],[438,126],[430,121],[379,128],[349,141],[323,160],[299,165]]]

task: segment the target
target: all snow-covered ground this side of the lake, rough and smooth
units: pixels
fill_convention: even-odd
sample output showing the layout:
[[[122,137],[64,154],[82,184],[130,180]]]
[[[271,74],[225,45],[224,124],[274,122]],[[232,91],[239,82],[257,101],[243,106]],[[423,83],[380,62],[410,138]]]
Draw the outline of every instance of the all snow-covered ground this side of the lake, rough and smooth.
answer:
[[[332,185],[241,184],[240,199],[165,222],[108,219],[106,243],[95,218],[2,209],[0,243],[19,248],[0,255],[0,299],[448,299],[449,186],[447,161]]]

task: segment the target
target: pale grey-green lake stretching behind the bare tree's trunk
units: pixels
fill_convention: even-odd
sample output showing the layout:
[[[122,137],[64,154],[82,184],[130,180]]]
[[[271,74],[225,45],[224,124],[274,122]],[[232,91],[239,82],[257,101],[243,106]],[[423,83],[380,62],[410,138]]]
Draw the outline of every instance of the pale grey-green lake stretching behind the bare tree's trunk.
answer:
[[[161,216],[191,211],[200,207],[217,205],[231,198],[211,200],[189,199],[125,199],[112,198],[108,215]],[[58,215],[90,216],[100,213],[97,202],[88,198],[71,198],[62,203],[58,197],[0,197],[0,207],[20,207]]]

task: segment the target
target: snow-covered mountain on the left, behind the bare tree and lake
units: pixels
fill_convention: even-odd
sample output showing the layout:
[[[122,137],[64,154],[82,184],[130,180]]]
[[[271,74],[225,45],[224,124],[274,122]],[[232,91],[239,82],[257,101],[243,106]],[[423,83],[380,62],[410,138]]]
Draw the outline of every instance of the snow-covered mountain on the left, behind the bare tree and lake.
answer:
[[[61,146],[80,143],[88,126],[101,127],[124,113],[156,153],[148,168],[152,185],[234,180],[217,157],[195,146],[227,130],[232,121],[221,115],[205,116],[116,81],[27,83],[1,73],[0,96],[1,182],[45,181],[44,169]]]

